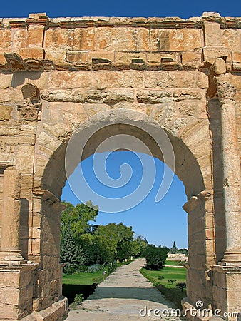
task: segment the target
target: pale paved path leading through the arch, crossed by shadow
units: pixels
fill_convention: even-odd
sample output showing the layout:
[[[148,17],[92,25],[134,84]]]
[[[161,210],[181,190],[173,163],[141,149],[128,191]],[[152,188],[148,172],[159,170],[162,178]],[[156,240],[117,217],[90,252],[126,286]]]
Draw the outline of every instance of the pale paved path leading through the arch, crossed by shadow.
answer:
[[[134,260],[119,267],[96,287],[95,292],[84,301],[80,310],[71,310],[67,321],[108,320],[180,320],[178,317],[163,317],[162,312],[175,308],[163,295],[140,274],[144,259]],[[145,309],[146,307],[146,309]],[[148,316],[148,310],[150,314]],[[145,313],[146,311],[146,313]],[[145,315],[146,314],[146,315]],[[160,317],[161,316],[161,317]]]

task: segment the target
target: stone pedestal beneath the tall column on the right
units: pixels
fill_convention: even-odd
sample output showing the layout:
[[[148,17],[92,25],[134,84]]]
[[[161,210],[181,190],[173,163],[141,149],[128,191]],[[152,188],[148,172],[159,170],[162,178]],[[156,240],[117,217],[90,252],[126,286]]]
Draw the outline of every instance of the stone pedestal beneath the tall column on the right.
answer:
[[[214,265],[212,283],[213,308],[223,319],[236,321],[241,311],[241,266]]]

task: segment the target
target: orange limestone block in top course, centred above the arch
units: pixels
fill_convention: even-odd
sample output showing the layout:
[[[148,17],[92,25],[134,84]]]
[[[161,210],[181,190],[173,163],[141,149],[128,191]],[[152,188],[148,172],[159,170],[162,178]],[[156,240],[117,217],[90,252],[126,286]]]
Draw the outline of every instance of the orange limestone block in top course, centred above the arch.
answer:
[[[149,51],[149,31],[144,28],[97,29],[96,49],[103,51]]]

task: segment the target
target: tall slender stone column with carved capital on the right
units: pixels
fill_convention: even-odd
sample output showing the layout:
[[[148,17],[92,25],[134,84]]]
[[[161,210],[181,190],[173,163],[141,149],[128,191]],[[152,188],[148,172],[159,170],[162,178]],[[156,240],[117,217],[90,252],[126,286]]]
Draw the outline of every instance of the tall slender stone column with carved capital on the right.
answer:
[[[225,203],[226,250],[223,265],[240,265],[240,155],[235,115],[235,87],[227,76],[216,76],[221,108],[222,173]]]

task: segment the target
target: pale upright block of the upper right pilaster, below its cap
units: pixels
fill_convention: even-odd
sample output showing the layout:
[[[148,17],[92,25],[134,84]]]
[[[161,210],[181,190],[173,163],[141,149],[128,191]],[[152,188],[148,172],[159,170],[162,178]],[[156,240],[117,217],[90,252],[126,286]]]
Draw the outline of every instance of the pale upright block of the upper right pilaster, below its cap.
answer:
[[[218,22],[204,22],[205,46],[222,46],[220,24]]]

